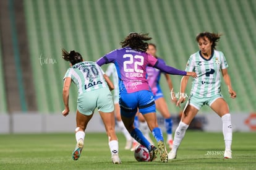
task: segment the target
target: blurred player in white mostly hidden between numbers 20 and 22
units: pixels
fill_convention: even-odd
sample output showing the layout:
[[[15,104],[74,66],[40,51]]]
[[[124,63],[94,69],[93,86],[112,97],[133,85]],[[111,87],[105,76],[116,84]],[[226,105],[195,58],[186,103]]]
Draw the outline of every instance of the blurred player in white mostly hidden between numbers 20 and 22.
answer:
[[[114,98],[114,112],[116,116],[116,123],[117,123],[117,126],[120,128],[122,134],[124,134],[124,137],[126,137],[126,147],[124,149],[129,150],[130,147],[132,147],[133,138],[130,136],[129,132],[127,131],[121,119],[120,106],[119,106],[118,76],[116,72],[116,67],[114,66],[113,63],[109,64],[105,74],[108,75],[108,77],[112,76],[112,79],[113,79],[113,83],[114,83],[113,98]]]

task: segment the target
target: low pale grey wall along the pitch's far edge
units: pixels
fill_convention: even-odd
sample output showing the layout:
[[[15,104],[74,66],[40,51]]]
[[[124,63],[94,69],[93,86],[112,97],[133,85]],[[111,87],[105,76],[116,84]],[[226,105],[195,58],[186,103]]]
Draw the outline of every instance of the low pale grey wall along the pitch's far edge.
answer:
[[[173,116],[173,130],[179,124],[179,117]],[[232,115],[234,132],[256,131],[256,113],[236,113]],[[164,129],[163,117],[158,115],[158,124]],[[216,114],[198,114],[190,129],[207,132],[222,132],[222,122]],[[0,115],[0,134],[74,132],[75,114],[64,117],[61,114],[16,113]],[[118,130],[118,129],[117,129]],[[163,130],[165,131],[165,130]],[[105,132],[100,114],[95,113],[86,132]]]

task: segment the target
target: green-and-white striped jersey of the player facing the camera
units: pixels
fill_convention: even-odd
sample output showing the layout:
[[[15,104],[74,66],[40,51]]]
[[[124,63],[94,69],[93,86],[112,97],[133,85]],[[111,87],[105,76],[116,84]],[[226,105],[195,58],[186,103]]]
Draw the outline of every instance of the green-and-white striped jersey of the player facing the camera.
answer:
[[[196,72],[197,79],[192,82],[191,95],[211,97],[221,93],[221,69],[226,69],[228,63],[221,51],[213,50],[210,59],[201,56],[201,51],[192,54],[187,62],[186,71]]]

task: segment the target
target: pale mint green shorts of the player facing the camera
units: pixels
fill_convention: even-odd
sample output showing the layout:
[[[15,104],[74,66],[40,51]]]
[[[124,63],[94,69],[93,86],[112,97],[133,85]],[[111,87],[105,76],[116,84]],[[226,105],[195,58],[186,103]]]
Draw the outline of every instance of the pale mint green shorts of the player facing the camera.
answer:
[[[190,104],[191,106],[194,106],[194,108],[200,110],[205,104],[211,106],[211,104],[213,104],[213,102],[215,102],[218,98],[223,98],[223,96],[220,93],[210,97],[190,95],[187,105]]]

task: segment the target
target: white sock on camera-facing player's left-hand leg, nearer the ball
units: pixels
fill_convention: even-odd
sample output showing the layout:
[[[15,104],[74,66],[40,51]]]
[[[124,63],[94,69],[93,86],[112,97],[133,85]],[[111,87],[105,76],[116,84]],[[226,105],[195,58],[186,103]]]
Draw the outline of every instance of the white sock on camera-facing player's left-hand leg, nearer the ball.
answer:
[[[175,131],[174,140],[173,140],[173,149],[171,151],[174,151],[175,153],[177,153],[177,148],[179,148],[179,145],[181,145],[182,139],[184,138],[188,127],[189,125],[185,124],[184,122],[179,122],[179,126]]]

